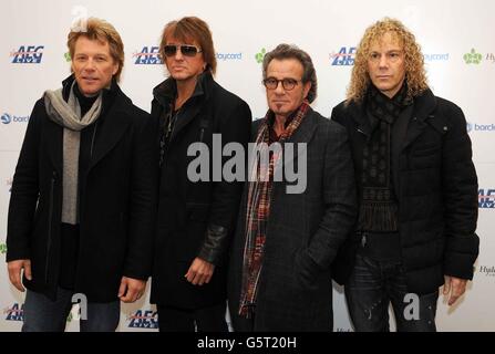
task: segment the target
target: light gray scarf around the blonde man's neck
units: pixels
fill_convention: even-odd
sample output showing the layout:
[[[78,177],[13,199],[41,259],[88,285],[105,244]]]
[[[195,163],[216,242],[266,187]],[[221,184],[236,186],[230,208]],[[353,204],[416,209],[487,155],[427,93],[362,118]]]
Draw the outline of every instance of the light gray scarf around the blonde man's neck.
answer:
[[[74,95],[75,81],[71,86],[69,101],[62,96],[62,88],[44,93],[44,106],[48,116],[63,129],[63,192],[62,222],[79,223],[79,148],[81,131],[95,122],[102,111],[102,92],[87,113],[81,117],[81,106]]]

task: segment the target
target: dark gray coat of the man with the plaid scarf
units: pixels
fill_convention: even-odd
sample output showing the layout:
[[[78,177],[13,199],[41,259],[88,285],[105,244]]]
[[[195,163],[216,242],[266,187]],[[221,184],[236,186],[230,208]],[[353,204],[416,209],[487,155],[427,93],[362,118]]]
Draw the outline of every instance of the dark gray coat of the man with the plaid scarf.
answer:
[[[252,142],[260,123],[261,119],[255,122]],[[348,137],[339,124],[309,110],[287,143],[307,144],[307,185],[301,194],[287,194],[290,184],[274,181],[254,330],[331,331],[331,264],[357,215]],[[283,166],[292,162],[283,160]],[[229,267],[228,298],[235,330],[243,329],[238,325],[238,311],[247,186]]]

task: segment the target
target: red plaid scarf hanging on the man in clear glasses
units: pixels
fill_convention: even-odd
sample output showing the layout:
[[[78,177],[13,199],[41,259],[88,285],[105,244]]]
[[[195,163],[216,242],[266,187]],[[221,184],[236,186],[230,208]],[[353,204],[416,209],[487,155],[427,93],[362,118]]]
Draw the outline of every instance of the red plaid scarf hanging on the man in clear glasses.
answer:
[[[299,127],[309,110],[309,103],[303,102],[295,112],[293,119],[285,128],[277,143],[271,147],[268,160],[259,156],[268,156],[270,145],[270,125],[274,113],[268,111],[258,131],[256,138],[256,154],[249,163],[247,215],[246,215],[246,243],[244,248],[243,283],[240,289],[239,315],[251,317],[258,292],[259,277],[261,274],[267,225],[270,215],[270,199],[274,181],[274,171],[281,168],[278,164],[282,155],[281,144],[286,142]]]

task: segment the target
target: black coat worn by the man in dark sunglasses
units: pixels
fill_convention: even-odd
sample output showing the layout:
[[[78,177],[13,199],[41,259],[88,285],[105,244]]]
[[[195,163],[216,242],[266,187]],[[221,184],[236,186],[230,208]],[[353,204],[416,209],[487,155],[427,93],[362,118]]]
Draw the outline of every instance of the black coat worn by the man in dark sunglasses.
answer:
[[[153,94],[152,116],[159,133],[176,95],[175,81],[167,79]],[[243,183],[213,181],[212,169],[221,171],[214,159],[221,158],[227,143],[239,143],[246,149],[250,124],[251,113],[243,100],[218,85],[212,74],[198,77],[193,96],[178,112],[161,168],[152,302],[200,309],[226,300],[225,256]],[[218,146],[213,146],[214,134],[221,136]],[[192,181],[187,168],[196,156],[187,156],[187,149],[198,142],[208,147],[209,180]],[[184,278],[196,257],[216,266],[208,284],[193,285]]]

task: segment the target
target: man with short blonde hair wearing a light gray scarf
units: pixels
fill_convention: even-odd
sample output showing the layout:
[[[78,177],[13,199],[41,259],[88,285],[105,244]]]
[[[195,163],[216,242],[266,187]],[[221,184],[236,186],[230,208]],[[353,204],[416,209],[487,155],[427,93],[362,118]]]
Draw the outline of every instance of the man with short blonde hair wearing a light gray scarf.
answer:
[[[12,183],[7,261],[28,289],[24,332],[63,331],[73,301],[81,331],[115,331],[120,301],[140,299],[151,273],[154,125],[117,85],[116,30],[82,24],[68,38],[72,74],[34,105]]]

